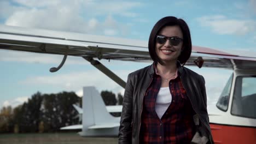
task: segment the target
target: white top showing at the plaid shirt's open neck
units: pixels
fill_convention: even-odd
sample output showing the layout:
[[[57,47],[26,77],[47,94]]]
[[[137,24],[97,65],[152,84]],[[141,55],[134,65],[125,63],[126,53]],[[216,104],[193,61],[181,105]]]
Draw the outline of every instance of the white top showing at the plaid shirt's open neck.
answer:
[[[161,87],[155,101],[155,112],[161,119],[172,102],[172,95],[169,87]]]

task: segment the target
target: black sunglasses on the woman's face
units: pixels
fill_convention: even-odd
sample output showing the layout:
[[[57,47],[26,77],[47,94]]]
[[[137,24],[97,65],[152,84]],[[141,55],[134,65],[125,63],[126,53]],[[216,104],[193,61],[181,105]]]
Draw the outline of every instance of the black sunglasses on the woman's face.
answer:
[[[179,45],[179,43],[181,43],[181,41],[183,40],[182,38],[179,38],[179,37],[166,37],[164,35],[156,35],[155,40],[156,40],[156,43],[165,44],[167,39],[169,40],[172,46]]]

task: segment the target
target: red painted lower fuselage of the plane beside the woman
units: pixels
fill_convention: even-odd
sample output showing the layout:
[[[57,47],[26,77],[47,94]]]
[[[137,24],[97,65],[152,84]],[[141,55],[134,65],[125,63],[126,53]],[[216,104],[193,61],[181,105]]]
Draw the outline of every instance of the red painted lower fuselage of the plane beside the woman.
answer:
[[[210,124],[215,143],[256,144],[256,128],[236,127],[232,125]]]

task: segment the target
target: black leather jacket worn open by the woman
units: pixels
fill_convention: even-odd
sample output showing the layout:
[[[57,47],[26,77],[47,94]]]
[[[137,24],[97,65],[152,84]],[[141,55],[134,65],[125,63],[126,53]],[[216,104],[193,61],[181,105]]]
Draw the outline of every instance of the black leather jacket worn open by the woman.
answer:
[[[200,124],[197,126],[197,131],[199,131],[200,137],[205,136],[207,137],[206,139],[210,140],[207,143],[214,143],[206,109],[205,80],[203,76],[180,64],[177,64],[177,67],[183,87],[199,118]],[[153,79],[153,74],[154,68],[152,64],[128,75],[120,119],[119,143],[139,143],[143,97]]]

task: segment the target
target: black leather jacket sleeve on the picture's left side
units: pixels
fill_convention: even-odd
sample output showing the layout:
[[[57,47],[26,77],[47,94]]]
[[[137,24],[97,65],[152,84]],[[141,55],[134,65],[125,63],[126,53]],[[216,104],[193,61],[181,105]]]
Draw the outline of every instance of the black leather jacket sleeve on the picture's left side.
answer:
[[[119,140],[118,143],[131,143],[132,141],[132,97],[133,86],[131,83],[131,74],[128,75],[125,86],[123,109],[120,119]]]

